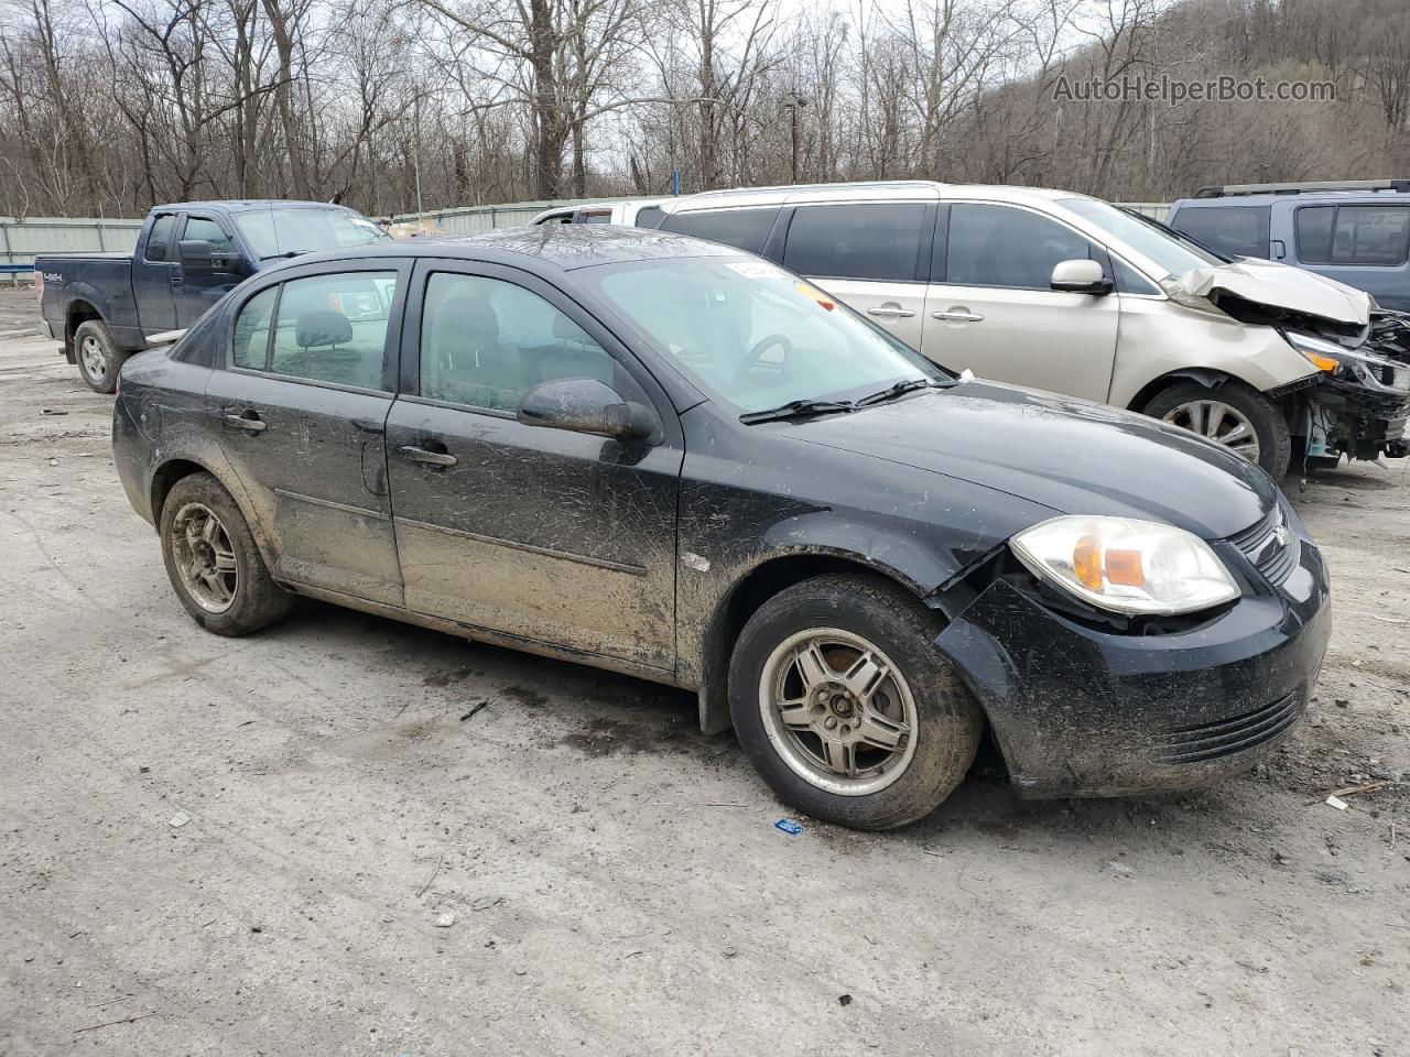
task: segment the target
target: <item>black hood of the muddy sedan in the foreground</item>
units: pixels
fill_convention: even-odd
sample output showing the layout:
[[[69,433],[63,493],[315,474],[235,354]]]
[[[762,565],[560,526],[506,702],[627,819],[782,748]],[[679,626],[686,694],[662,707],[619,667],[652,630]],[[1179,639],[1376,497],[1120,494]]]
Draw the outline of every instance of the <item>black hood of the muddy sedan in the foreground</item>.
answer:
[[[997,382],[960,382],[784,430],[1058,513],[1165,521],[1206,540],[1248,528],[1277,496],[1263,471],[1193,433]]]

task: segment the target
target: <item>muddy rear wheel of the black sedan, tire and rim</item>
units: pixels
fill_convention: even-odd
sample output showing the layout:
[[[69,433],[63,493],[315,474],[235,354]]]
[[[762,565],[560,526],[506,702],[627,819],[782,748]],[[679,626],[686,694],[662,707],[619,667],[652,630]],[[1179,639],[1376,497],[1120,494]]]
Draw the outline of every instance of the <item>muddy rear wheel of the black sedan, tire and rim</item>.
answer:
[[[162,505],[161,541],[176,596],[207,631],[250,634],[293,605],[269,576],[235,500],[210,474],[172,486]]]

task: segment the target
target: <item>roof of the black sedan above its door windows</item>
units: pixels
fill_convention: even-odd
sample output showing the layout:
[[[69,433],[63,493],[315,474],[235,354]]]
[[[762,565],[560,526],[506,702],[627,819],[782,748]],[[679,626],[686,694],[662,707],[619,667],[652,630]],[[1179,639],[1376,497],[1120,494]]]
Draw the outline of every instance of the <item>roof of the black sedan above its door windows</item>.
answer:
[[[510,264],[520,268],[530,264],[548,265],[568,272],[577,268],[629,261],[743,255],[743,251],[733,247],[651,228],[616,224],[540,224],[498,228],[462,238],[417,238],[406,242],[374,242],[345,249],[330,249],[293,258],[289,265],[376,256],[415,256]]]

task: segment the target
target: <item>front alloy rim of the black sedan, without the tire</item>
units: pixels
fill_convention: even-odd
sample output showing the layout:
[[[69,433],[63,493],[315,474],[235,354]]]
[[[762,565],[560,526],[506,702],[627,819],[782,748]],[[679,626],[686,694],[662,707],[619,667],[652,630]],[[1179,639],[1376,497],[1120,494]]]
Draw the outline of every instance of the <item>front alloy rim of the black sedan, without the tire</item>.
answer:
[[[836,627],[799,631],[759,685],[764,730],[799,778],[840,796],[895,782],[915,755],[915,699],[876,644]]]

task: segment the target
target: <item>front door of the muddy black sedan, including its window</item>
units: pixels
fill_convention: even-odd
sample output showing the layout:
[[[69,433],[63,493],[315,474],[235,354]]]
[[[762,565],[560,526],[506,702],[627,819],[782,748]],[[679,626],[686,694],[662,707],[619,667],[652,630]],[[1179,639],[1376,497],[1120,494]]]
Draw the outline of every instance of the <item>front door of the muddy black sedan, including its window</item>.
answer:
[[[386,426],[406,606],[674,668],[682,445],[664,395],[595,320],[523,272],[426,262],[410,303]],[[519,423],[525,393],[560,378],[654,406],[664,441]]]

